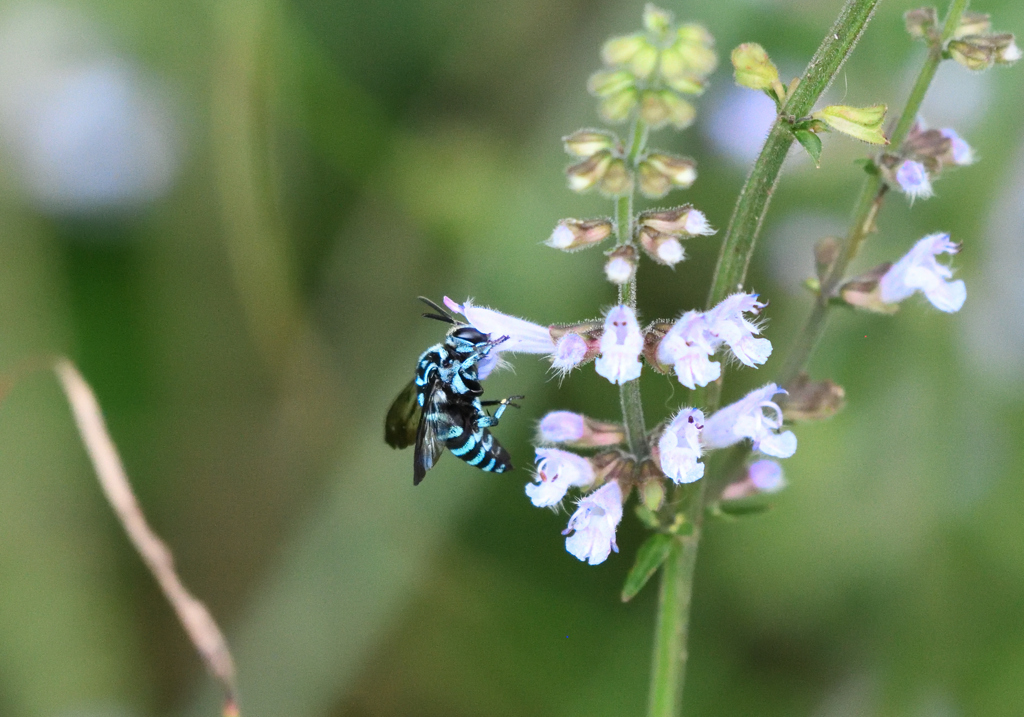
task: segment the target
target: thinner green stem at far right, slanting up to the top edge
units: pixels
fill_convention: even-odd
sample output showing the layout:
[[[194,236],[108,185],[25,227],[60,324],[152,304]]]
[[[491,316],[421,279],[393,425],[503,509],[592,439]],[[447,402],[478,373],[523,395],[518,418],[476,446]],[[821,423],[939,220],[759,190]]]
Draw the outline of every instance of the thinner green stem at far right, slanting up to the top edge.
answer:
[[[918,113],[921,111],[921,104],[925,100],[928,88],[931,86],[932,80],[935,79],[935,73],[942,61],[942,48],[956,31],[956,25],[964,10],[967,9],[967,5],[968,0],[952,0],[949,3],[949,10],[946,13],[946,19],[942,28],[942,39],[929,47],[928,57],[926,57],[925,64],[918,74],[918,79],[913,83],[913,89],[910,90],[906,104],[903,107],[903,112],[900,114],[899,120],[896,121],[892,135],[889,138],[891,146],[898,150],[913,127],[913,123],[918,119]],[[881,174],[876,172],[864,178],[860,198],[857,200],[857,206],[853,212],[850,231],[847,234],[846,241],[843,242],[840,248],[839,256],[821,280],[821,286],[815,297],[811,313],[807,318],[803,329],[797,335],[797,339],[790,349],[790,354],[786,356],[785,364],[777,379],[779,385],[786,385],[797,378],[807,367],[807,362],[810,361],[815,346],[817,346],[828,325],[828,315],[830,313],[828,300],[836,294],[836,291],[843,283],[846,271],[854,258],[856,258],[864,240],[874,230],[876,218],[878,217],[879,210],[882,208],[882,201],[885,198],[887,189],[888,186]]]

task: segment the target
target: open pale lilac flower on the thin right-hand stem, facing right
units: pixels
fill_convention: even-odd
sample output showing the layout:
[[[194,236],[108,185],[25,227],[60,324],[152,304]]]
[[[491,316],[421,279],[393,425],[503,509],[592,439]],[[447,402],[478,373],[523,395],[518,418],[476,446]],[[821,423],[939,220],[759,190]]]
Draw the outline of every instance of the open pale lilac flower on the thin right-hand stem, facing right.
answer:
[[[925,237],[882,277],[879,282],[882,300],[897,303],[920,291],[940,311],[958,311],[967,299],[967,286],[958,279],[949,281],[952,270],[935,260],[939,254],[958,251],[959,245],[950,242],[947,234]]]

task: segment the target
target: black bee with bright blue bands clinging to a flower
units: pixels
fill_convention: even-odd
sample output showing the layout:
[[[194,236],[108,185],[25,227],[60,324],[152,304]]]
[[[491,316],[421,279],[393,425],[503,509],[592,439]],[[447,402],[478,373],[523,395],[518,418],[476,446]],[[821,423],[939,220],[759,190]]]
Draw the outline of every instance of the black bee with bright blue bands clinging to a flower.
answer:
[[[388,446],[406,448],[415,442],[413,484],[418,486],[441,452],[471,466],[495,473],[512,470],[512,459],[489,428],[521,395],[501,400],[480,400],[483,387],[479,381],[479,363],[490,350],[508,340],[508,336],[489,339],[473,327],[457,322],[443,308],[422,296],[420,300],[436,313],[424,313],[451,324],[442,343],[435,344],[420,355],[416,376],[398,394],[387,412],[384,439]],[[494,416],[483,407],[497,406]]]

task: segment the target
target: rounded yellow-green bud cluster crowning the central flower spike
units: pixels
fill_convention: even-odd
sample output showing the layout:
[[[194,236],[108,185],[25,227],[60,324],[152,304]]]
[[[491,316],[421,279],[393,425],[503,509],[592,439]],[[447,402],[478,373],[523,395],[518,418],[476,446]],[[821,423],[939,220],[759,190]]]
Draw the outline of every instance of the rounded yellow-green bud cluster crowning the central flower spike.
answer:
[[[608,40],[601,50],[605,70],[591,76],[590,92],[601,117],[625,122],[638,111],[653,129],[671,124],[684,129],[696,111],[683,95],[700,94],[715,70],[715,39],[701,26],[675,26],[671,13],[648,4],[644,31]]]

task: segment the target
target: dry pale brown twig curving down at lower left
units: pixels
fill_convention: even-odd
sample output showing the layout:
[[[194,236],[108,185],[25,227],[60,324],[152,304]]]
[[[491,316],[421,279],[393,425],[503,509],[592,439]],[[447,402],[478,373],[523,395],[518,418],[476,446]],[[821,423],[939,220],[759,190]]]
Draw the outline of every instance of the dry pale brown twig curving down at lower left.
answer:
[[[57,358],[52,368],[68,397],[82,442],[96,470],[106,500],[128,534],[128,539],[177,614],[181,626],[203,658],[207,671],[224,690],[224,717],[238,717],[234,662],[220,628],[206,605],[182,585],[174,570],[174,556],[170,549],[145,521],[142,508],[131,490],[121,456],[106,430],[106,423],[92,388],[68,358]]]

